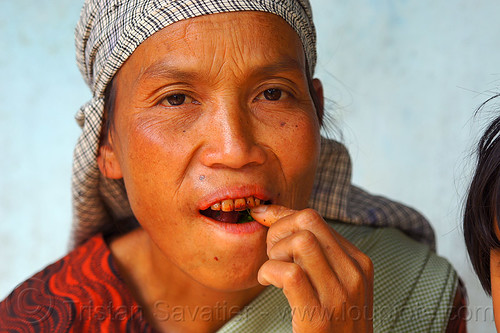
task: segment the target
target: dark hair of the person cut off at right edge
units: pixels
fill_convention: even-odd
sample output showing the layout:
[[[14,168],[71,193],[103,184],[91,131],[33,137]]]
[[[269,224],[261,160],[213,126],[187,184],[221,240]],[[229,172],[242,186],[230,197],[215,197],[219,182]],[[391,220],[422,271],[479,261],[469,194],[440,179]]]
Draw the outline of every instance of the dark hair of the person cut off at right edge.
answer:
[[[486,104],[497,98],[493,96]],[[464,210],[464,237],[472,266],[491,294],[490,251],[500,248],[495,225],[500,222],[500,116],[488,126],[477,147],[477,165]]]

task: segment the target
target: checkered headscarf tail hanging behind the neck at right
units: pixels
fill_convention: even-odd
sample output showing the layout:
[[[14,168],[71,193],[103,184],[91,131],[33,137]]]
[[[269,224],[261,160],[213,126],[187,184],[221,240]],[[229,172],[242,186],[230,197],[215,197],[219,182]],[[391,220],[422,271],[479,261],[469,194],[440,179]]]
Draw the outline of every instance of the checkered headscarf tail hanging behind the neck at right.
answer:
[[[310,207],[324,218],[357,225],[393,227],[435,249],[434,231],[416,210],[351,184],[351,160],[342,144],[322,138]]]

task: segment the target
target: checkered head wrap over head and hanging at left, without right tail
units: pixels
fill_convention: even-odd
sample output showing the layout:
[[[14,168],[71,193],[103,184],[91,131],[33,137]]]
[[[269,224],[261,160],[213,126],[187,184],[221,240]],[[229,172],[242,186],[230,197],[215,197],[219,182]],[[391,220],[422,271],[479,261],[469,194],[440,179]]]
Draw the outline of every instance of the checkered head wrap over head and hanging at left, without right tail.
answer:
[[[201,15],[268,12],[297,32],[313,76],[316,32],[309,0],[87,0],[75,31],[76,58],[92,99],[76,115],[82,127],[73,159],[73,245],[113,228],[132,215],[122,180],[101,175],[97,166],[104,92],[113,76],[148,37],[162,28]]]

